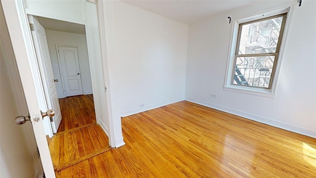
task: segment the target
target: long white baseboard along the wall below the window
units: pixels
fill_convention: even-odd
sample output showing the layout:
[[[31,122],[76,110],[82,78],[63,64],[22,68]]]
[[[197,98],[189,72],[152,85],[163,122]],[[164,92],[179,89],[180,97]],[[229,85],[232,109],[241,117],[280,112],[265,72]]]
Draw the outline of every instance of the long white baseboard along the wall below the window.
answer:
[[[263,123],[263,124],[274,126],[274,127],[280,128],[280,129],[284,129],[284,130],[291,131],[291,132],[294,132],[294,133],[303,134],[303,135],[307,135],[307,136],[311,136],[311,137],[316,138],[316,131],[313,131],[313,130],[310,130],[310,129],[305,129],[305,128],[301,128],[301,127],[298,127],[298,126],[293,126],[293,125],[290,125],[290,124],[287,124],[287,123],[276,121],[274,119],[269,119],[269,118],[262,117],[262,116],[259,116],[259,115],[247,113],[247,112],[240,111],[240,110],[237,110],[237,109],[233,109],[233,108],[229,108],[229,107],[225,107],[225,106],[221,106],[221,105],[217,105],[217,104],[201,101],[201,100],[190,98],[190,97],[186,97],[185,100],[190,101],[190,102],[194,102],[194,103],[206,106],[206,107],[214,108],[214,109],[217,109],[217,110],[220,110],[220,111],[224,111],[224,112],[227,112],[227,113],[230,113],[230,114],[234,114],[234,115],[246,118],[246,119],[257,121],[257,122],[260,122],[260,123]]]

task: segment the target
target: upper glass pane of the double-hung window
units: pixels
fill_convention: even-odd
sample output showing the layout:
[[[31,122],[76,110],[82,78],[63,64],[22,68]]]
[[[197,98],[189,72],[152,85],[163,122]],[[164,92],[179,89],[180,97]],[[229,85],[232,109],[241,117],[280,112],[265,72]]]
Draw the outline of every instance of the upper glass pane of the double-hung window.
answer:
[[[238,54],[276,52],[283,17],[241,26]]]

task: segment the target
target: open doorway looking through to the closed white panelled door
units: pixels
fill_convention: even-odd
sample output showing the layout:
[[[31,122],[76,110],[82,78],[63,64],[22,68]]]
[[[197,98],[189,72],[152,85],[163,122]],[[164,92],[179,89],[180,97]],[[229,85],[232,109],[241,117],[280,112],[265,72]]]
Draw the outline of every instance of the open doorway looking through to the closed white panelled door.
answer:
[[[38,44],[41,46],[43,57],[39,56],[40,51],[37,50],[37,53],[39,66],[44,66],[40,67],[42,79],[47,78],[43,80],[44,90],[45,85],[49,84],[46,81],[53,80],[54,83],[51,85],[56,86],[57,93],[54,95],[58,95],[59,98],[59,106],[54,109],[60,108],[62,119],[60,125],[53,128],[54,133],[96,124],[84,25],[39,16],[29,16],[29,18],[34,23],[33,33],[40,33],[43,39]],[[47,57],[44,57],[45,55]],[[49,93],[49,90],[45,91]],[[46,96],[48,102],[51,97],[47,97],[49,95]]]

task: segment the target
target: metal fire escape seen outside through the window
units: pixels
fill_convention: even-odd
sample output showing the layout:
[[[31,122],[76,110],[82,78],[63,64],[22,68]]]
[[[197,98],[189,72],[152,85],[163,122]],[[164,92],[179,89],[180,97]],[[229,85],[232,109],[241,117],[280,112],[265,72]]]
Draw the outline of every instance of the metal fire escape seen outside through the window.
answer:
[[[281,18],[249,24],[244,54],[273,53],[279,36]],[[243,54],[239,49],[239,54]],[[234,80],[237,85],[268,88],[274,57],[257,56],[236,59]]]

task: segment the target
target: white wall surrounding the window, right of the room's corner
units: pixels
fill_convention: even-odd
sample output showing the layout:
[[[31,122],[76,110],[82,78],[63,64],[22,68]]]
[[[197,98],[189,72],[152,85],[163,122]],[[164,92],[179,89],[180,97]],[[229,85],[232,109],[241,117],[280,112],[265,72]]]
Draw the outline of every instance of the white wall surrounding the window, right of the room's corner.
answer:
[[[186,99],[316,137],[316,1],[294,7],[275,98],[223,90],[231,34],[227,17],[236,20],[286,2],[256,2],[190,25]]]

